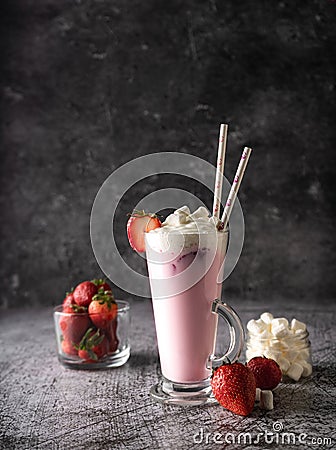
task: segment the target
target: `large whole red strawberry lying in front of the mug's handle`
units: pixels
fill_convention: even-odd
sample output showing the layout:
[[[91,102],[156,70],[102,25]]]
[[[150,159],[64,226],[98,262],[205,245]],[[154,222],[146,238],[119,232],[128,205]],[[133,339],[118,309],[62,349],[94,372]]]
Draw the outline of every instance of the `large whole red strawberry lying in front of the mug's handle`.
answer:
[[[211,379],[212,392],[224,408],[247,416],[253,409],[256,382],[252,371],[241,363],[219,367]]]

